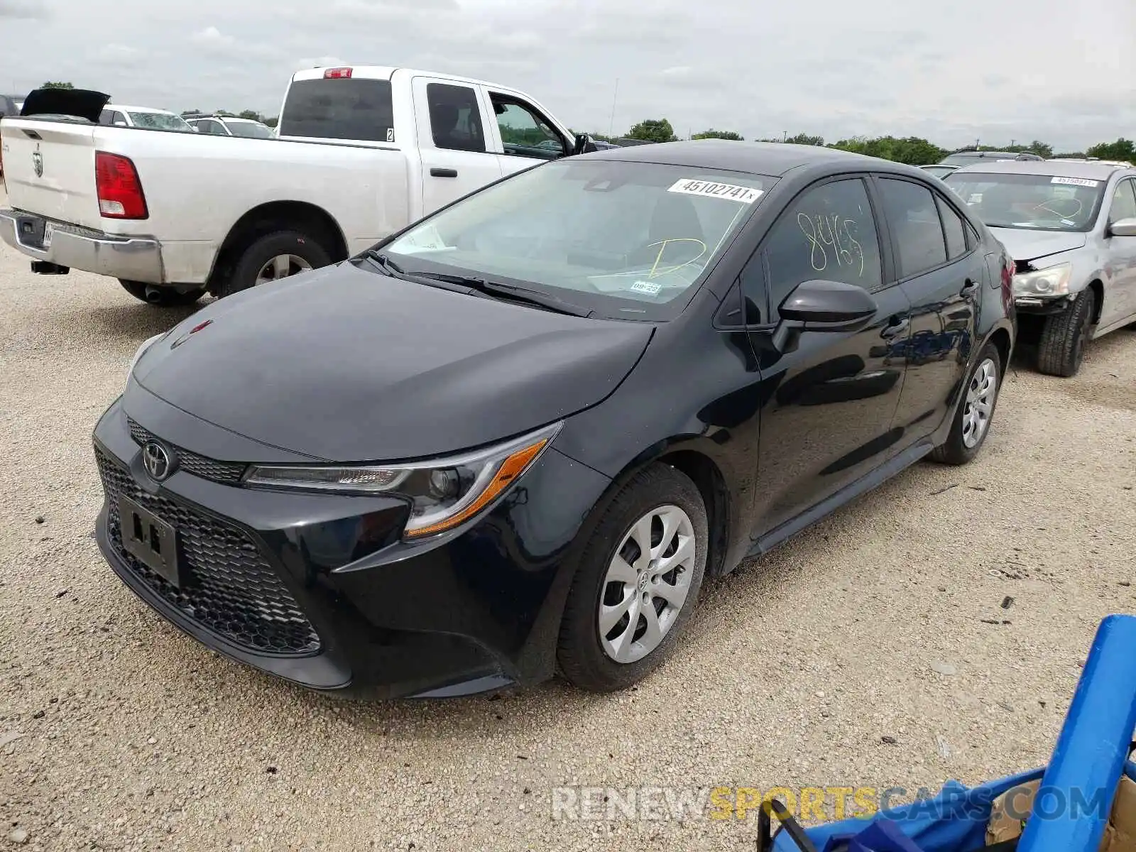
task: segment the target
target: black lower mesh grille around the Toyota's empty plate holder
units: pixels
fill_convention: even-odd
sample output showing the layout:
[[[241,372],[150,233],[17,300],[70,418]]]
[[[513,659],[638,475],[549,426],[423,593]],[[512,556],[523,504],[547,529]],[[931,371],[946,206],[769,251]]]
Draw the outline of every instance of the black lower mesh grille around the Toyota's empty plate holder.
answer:
[[[110,545],[140,580],[187,619],[241,648],[281,657],[309,657],[319,636],[296,600],[241,529],[164,496],[148,494],[95,449],[110,506]],[[177,528],[182,588],[158,576],[123,546],[118,499],[126,496]]]

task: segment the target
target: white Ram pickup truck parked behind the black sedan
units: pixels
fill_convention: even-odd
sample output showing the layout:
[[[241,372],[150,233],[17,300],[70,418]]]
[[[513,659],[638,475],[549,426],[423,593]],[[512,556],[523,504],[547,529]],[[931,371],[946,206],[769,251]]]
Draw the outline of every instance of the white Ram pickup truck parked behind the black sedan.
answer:
[[[107,97],[36,90],[0,120],[0,237],[32,269],[189,304],[337,262],[513,172],[583,150],[523,92],[445,74],[312,68],[278,139],[98,124]]]

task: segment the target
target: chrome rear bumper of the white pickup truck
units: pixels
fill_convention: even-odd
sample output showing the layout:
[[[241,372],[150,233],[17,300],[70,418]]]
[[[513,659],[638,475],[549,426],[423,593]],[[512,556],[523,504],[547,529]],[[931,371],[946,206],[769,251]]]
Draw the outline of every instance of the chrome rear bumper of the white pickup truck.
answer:
[[[44,245],[48,224],[34,214],[0,210],[0,239],[33,260],[126,281],[165,281],[157,240],[111,236],[77,225],[50,223],[51,240]]]

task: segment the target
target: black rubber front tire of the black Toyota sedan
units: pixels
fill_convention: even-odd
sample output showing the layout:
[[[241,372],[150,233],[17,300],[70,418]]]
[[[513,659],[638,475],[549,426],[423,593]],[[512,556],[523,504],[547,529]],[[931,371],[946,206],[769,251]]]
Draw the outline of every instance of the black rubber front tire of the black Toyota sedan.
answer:
[[[643,529],[641,519],[655,512],[667,515],[675,534],[671,542],[663,545],[662,519],[652,518],[649,528],[657,559],[641,561],[636,529]],[[654,582],[650,571],[659,567],[658,557],[678,556],[679,544],[684,550],[687,546],[684,529],[685,538],[693,544],[693,554],[683,559],[680,567]],[[658,463],[628,482],[603,510],[582,551],[560,626],[557,655],[563,676],[582,690],[615,692],[653,671],[671,652],[676,637],[698,604],[708,541],[702,495],[686,475]],[[625,558],[623,565],[628,575],[621,587],[619,579],[609,576],[609,569],[615,570],[617,556]],[[641,567],[648,570],[637,570]],[[685,596],[679,601],[677,611],[671,611],[668,601],[675,600],[684,585]],[[652,594],[653,590],[662,592],[665,588],[667,598]],[[655,612],[652,623],[662,634],[661,641],[649,635],[642,595],[650,595],[651,611]],[[611,621],[613,627],[609,629],[607,640],[600,635],[600,607],[604,601],[611,605],[612,618],[619,619]],[[632,613],[635,616],[634,626]],[[621,651],[625,660],[617,661],[612,650],[617,653]]]

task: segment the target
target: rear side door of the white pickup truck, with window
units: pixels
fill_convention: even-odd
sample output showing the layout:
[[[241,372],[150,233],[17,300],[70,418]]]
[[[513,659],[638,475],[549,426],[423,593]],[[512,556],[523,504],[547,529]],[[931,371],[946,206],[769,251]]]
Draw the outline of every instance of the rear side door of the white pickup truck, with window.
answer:
[[[501,164],[488,149],[488,120],[475,86],[415,77],[412,91],[426,215],[496,181]]]

